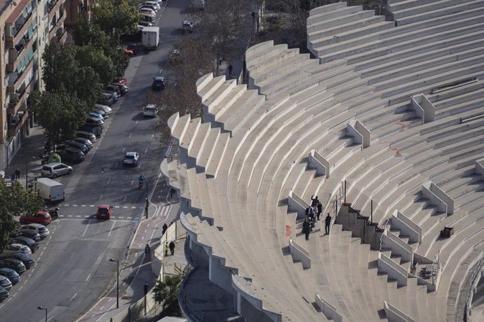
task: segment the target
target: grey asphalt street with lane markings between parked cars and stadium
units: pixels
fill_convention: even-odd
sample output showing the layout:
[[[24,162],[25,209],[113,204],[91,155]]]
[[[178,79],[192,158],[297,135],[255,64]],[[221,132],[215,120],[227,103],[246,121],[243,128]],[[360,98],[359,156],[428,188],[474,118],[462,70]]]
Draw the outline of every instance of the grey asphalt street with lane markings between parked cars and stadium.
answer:
[[[147,178],[152,191],[159,177],[159,165],[166,149],[156,136],[158,120],[145,119],[140,110],[152,78],[163,76],[163,62],[180,35],[188,0],[163,3],[158,14],[161,43],[152,52],[133,57],[127,74],[128,94],[112,106],[101,139],[70,176],[58,178],[65,185],[62,217],[48,225],[51,236],[41,241],[34,253],[36,266],[22,274],[22,281],[11,290],[11,297],[0,304],[1,321],[43,321],[48,309],[49,321],[74,321],[87,311],[106,290],[116,274],[133,232],[144,216],[145,190],[137,188],[138,174],[122,168],[126,151],[140,153],[135,168]],[[161,18],[161,19],[160,19]],[[151,194],[150,194],[151,195]],[[95,219],[98,204],[112,204],[110,221]]]

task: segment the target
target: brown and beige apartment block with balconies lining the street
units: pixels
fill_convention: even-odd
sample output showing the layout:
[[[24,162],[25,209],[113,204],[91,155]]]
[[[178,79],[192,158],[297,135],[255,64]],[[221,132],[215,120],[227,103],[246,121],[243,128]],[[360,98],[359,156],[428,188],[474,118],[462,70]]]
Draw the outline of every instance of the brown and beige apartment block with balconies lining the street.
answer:
[[[0,0],[0,169],[29,135],[29,93],[43,87],[41,56],[48,41],[64,43],[65,0]]]

